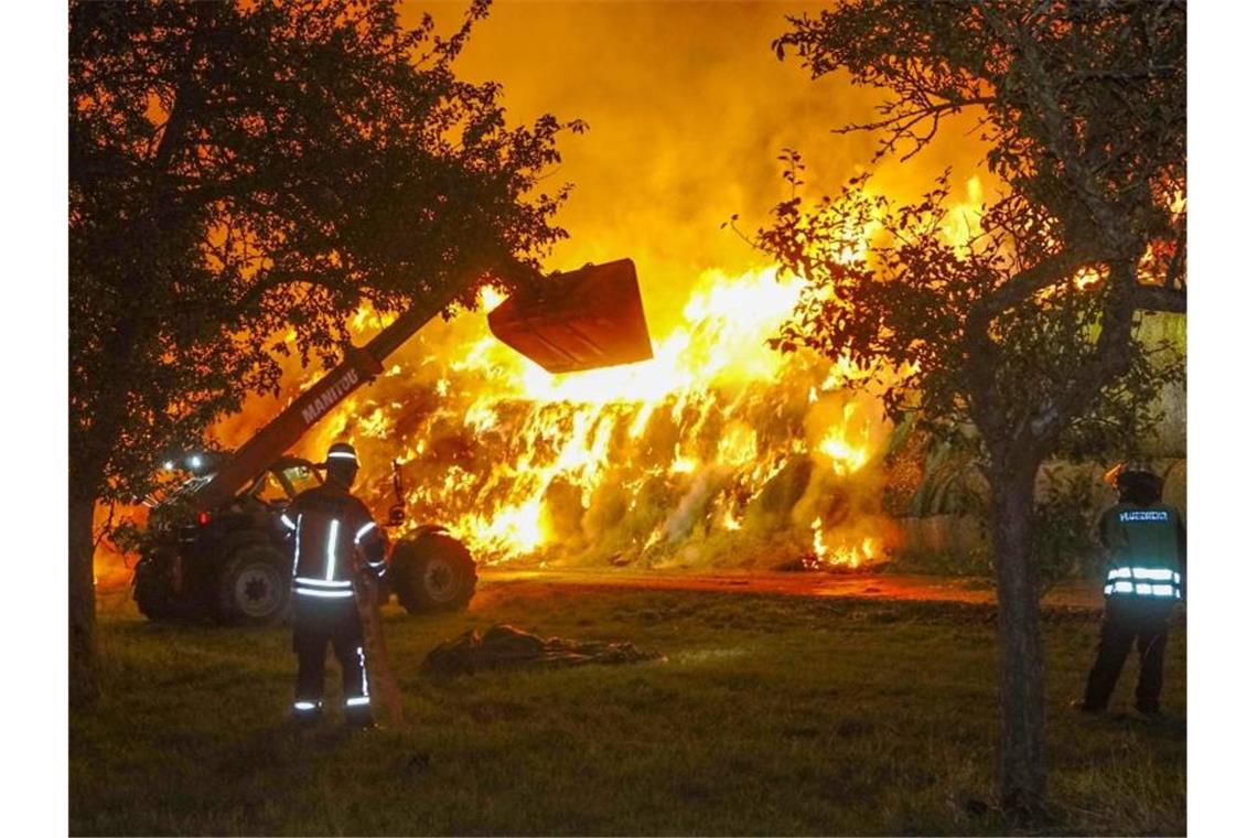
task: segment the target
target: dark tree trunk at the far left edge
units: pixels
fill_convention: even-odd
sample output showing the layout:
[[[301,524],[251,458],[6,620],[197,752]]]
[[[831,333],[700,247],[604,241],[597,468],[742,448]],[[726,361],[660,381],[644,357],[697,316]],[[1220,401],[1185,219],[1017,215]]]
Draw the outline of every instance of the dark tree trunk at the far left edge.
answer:
[[[92,704],[98,692],[96,667],[96,539],[92,523],[96,499],[70,494],[69,574],[69,685],[70,705]]]

